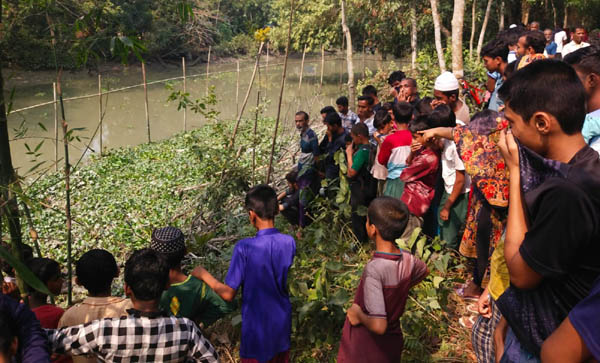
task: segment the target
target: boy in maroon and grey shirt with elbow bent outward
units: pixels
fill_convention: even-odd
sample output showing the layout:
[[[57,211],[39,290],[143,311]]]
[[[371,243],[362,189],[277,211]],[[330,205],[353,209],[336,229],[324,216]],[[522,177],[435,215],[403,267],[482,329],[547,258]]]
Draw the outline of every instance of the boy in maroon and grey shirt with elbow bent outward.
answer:
[[[338,363],[400,362],[400,317],[408,291],[429,273],[422,261],[396,246],[408,219],[406,205],[396,198],[380,197],[369,206],[366,228],[376,252],[348,309]]]

